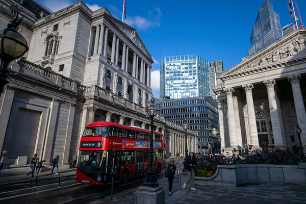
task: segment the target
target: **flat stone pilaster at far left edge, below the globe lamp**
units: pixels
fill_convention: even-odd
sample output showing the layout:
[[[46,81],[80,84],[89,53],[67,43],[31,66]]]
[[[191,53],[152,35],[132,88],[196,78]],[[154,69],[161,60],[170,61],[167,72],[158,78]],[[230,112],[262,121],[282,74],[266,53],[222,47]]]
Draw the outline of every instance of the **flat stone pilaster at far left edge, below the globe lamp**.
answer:
[[[16,88],[10,85],[6,85],[5,91],[0,93],[0,96],[3,97],[2,104],[0,106],[0,148],[3,148],[5,135],[7,132],[7,127],[10,119],[10,113],[13,105],[14,95]],[[1,154],[2,154],[2,150]]]

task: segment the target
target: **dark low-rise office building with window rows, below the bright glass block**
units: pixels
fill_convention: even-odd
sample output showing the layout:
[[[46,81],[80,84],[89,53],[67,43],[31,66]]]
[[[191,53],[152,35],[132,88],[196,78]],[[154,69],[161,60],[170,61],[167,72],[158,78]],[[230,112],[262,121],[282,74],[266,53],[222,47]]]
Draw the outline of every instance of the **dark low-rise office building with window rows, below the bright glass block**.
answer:
[[[212,149],[218,151],[220,149],[220,142],[218,140],[219,134],[219,117],[218,106],[216,100],[211,96],[207,97],[190,97],[180,99],[157,99],[156,108],[160,115],[163,115],[166,120],[172,121],[176,124],[182,125],[184,119],[187,118],[189,129],[196,132],[198,136],[197,150],[199,152],[206,151],[208,145],[212,145]],[[171,137],[173,138],[173,137]],[[185,146],[180,146],[181,139],[174,135],[174,145],[179,149],[172,149],[173,153],[180,153],[185,151]],[[189,144],[193,147],[193,140],[189,139]],[[179,144],[179,145],[176,145]]]

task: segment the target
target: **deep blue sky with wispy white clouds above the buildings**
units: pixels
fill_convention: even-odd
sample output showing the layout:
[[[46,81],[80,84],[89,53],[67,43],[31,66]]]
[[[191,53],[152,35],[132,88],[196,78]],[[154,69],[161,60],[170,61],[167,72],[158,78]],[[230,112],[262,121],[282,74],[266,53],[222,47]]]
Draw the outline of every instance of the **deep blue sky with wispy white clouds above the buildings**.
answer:
[[[53,11],[77,1],[40,0]],[[270,0],[281,26],[293,22],[289,0]],[[123,0],[84,0],[91,10],[106,7],[121,19]],[[197,54],[209,62],[222,60],[229,69],[247,56],[250,33],[265,0],[126,0],[127,24],[137,29],[156,63],[152,64],[152,92],[159,97],[159,62],[165,56]],[[295,2],[293,0],[293,2]],[[306,1],[296,0],[306,24]],[[295,6],[295,4],[294,4]],[[298,17],[297,10],[296,16]],[[300,21],[299,21],[300,25]]]

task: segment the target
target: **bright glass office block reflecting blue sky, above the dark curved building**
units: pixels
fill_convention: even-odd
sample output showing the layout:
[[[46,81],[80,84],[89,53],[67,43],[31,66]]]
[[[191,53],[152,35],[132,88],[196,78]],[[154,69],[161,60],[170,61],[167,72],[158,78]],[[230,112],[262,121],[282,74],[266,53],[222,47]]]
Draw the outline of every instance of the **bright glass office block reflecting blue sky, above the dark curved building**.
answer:
[[[209,96],[208,60],[198,55],[164,57],[160,63],[160,97]]]

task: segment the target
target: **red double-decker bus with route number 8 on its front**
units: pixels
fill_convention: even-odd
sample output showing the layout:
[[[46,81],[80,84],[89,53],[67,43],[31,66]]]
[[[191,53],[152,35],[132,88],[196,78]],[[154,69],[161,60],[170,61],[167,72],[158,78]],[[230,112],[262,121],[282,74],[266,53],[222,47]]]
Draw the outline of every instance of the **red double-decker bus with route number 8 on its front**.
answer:
[[[93,122],[86,126],[80,141],[80,156],[75,182],[111,183],[114,158],[115,182],[126,183],[144,175],[149,163],[150,131],[113,122]],[[112,151],[112,149],[115,151]],[[153,134],[154,164],[158,171],[166,168],[166,140]]]

